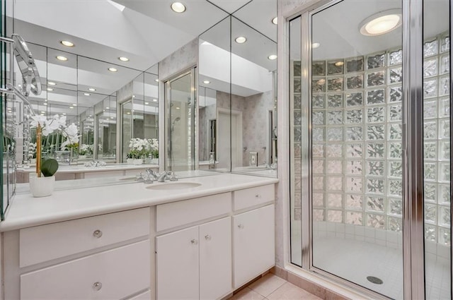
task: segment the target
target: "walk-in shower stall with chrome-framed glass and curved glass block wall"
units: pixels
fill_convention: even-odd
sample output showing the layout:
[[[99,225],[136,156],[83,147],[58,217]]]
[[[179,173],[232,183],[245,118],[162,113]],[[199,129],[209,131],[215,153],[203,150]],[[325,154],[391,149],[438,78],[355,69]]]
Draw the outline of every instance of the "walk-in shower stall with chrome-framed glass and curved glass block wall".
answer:
[[[451,299],[451,4],[317,3],[287,26],[291,262]]]

